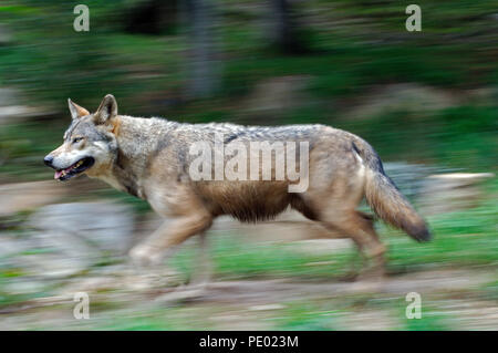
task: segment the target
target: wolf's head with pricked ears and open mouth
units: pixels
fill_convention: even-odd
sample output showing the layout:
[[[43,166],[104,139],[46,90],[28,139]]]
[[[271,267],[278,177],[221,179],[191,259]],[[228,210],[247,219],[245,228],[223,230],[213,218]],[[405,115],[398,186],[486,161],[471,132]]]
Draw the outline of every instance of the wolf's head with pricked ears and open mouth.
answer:
[[[44,163],[55,169],[54,178],[68,180],[87,173],[98,175],[108,168],[117,155],[114,129],[117,125],[117,103],[107,94],[94,114],[68,100],[72,122],[64,133],[63,144],[45,156]]]

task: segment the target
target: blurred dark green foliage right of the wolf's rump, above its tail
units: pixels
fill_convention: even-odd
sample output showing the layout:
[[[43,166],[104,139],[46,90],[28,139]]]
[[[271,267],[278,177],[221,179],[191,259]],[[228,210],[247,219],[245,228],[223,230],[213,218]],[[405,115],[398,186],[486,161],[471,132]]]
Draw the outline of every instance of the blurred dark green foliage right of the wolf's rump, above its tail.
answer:
[[[397,111],[369,121],[343,120],[336,126],[369,141],[384,160],[407,158],[489,172],[496,168],[490,160],[498,159],[497,114],[496,106],[463,105],[425,116]]]

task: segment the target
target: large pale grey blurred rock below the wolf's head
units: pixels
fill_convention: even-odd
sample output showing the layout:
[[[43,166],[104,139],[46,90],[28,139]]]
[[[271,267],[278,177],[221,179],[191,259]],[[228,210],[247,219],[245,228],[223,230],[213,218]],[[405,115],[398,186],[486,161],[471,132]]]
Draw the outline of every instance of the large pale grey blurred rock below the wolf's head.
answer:
[[[27,225],[32,231],[23,249],[30,251],[12,257],[12,266],[45,279],[79,274],[103,258],[123,255],[134,228],[128,207],[106,201],[44,206]]]

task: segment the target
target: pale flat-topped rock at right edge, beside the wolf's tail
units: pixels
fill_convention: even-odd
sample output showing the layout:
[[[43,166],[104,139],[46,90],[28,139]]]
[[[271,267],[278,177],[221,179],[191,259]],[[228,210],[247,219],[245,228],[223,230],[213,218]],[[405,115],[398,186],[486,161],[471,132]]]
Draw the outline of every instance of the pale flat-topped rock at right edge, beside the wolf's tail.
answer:
[[[449,173],[430,175],[425,179],[419,201],[427,215],[470,208],[484,196],[479,184],[494,177],[492,173]]]

